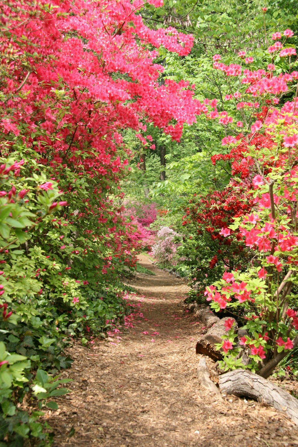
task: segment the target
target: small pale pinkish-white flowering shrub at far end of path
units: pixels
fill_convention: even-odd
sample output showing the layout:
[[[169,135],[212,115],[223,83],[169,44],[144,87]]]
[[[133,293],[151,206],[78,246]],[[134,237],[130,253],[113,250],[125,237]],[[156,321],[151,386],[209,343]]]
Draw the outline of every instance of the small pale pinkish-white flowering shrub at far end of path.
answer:
[[[175,266],[179,260],[176,254],[177,238],[180,235],[172,228],[161,227],[156,234],[155,244],[152,247],[152,255],[165,266]]]

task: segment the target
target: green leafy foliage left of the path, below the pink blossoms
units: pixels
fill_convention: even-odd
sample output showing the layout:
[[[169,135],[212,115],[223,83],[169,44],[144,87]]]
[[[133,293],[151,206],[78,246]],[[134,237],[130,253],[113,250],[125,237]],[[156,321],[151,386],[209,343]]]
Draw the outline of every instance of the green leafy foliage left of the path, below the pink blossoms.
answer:
[[[23,411],[21,402],[35,396],[39,409],[57,409],[52,399],[67,390],[50,375],[70,367],[71,358],[63,354],[70,337],[84,334],[88,342],[89,335],[109,329],[112,320],[122,320],[127,307],[116,277],[123,260],[117,258],[105,277],[101,270],[113,254],[112,236],[104,237],[99,256],[95,240],[86,244],[92,220],[82,218],[77,225],[65,218],[66,206],[75,214],[86,207],[90,182],[65,169],[58,188],[35,152],[15,149],[0,160],[7,171],[0,195],[0,445],[7,440],[21,446],[29,438],[47,445],[47,426],[38,422],[42,413]],[[14,169],[21,170],[19,176]],[[67,181],[76,183],[80,194],[64,194],[67,200],[59,202]],[[125,240],[125,233],[121,237]]]

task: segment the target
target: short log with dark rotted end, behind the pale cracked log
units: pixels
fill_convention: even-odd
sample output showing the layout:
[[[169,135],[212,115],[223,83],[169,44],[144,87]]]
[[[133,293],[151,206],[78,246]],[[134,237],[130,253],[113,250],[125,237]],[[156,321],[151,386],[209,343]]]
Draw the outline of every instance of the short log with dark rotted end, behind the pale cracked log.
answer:
[[[222,343],[222,335],[227,332],[224,327],[224,322],[227,318],[222,318],[220,320],[216,317],[218,321],[206,332],[206,334],[197,341],[196,353],[207,355],[213,360],[222,360],[222,352],[217,351],[215,344]],[[237,329],[236,322],[234,323],[235,330]]]

